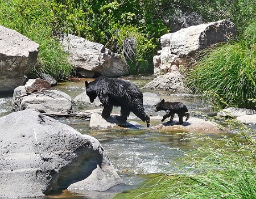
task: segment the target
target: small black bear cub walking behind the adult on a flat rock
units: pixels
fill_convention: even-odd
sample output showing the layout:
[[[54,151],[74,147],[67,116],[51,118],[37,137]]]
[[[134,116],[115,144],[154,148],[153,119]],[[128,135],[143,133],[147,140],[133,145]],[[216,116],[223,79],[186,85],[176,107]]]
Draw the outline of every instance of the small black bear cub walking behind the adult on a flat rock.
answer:
[[[170,101],[160,101],[158,104],[155,105],[155,111],[161,111],[164,110],[166,111],[166,115],[163,116],[162,122],[166,120],[167,117],[171,117],[170,121],[167,123],[171,123],[174,119],[175,113],[179,116],[179,124],[183,124],[183,117],[187,116],[186,121],[189,118],[189,113],[188,109],[185,104],[175,101],[175,102],[170,102]]]

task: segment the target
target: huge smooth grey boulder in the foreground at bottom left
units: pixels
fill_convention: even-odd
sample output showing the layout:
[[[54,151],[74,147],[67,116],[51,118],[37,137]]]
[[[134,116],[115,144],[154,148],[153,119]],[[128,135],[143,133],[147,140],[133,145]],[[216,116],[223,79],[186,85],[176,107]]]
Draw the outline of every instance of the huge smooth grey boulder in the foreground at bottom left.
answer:
[[[123,183],[96,138],[31,109],[0,118],[0,156],[1,198]]]

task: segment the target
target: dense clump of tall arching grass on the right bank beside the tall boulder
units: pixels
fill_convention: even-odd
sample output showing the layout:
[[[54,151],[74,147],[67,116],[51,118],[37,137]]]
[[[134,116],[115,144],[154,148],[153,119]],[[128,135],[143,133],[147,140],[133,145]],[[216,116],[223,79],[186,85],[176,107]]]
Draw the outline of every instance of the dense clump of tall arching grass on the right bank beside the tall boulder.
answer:
[[[189,71],[187,86],[219,108],[253,108],[256,96],[256,23],[247,27],[243,39],[204,50]]]

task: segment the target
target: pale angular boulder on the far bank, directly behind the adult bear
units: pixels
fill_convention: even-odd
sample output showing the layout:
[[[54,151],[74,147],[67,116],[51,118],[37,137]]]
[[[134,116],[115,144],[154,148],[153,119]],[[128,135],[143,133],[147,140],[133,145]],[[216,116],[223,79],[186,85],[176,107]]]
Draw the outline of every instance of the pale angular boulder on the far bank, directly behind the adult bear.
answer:
[[[61,43],[65,51],[69,53],[69,62],[84,77],[93,77],[95,73],[106,77],[119,77],[128,74],[128,65],[125,60],[102,44],[93,43],[71,34],[64,36]]]

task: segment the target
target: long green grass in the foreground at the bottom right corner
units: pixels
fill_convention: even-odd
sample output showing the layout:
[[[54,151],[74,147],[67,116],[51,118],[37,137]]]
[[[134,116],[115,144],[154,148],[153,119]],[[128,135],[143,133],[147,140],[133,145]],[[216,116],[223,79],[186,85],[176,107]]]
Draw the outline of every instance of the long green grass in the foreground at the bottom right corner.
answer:
[[[180,173],[159,177],[151,190],[135,198],[256,198],[255,139],[240,134],[209,141],[185,153]]]

